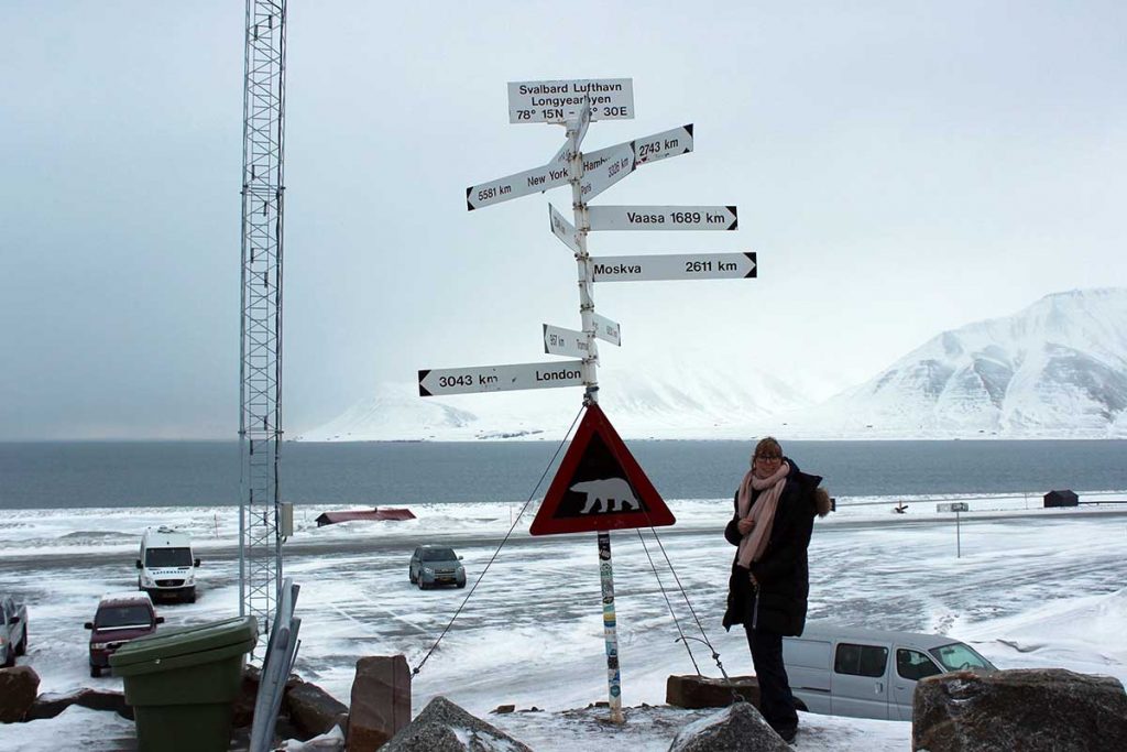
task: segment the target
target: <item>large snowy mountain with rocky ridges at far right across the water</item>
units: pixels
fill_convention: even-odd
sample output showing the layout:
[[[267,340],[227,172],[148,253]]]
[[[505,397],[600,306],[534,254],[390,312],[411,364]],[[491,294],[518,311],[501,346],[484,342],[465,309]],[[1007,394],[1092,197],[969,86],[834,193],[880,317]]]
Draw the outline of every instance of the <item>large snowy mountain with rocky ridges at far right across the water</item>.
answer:
[[[1056,293],[944,331],[789,418],[798,435],[1127,436],[1127,290]]]

